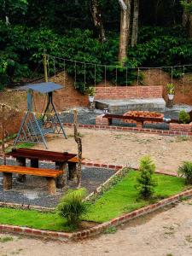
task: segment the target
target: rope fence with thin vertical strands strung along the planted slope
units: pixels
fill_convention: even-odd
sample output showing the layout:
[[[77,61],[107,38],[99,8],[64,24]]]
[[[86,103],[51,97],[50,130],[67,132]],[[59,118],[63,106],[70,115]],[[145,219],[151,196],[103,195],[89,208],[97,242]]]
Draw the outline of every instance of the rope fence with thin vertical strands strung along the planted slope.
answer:
[[[155,83],[157,85],[164,85],[163,72],[166,72],[169,74],[169,79],[167,81],[169,83],[173,83],[174,79],[179,79],[179,82],[183,80],[181,90],[184,95],[184,85],[186,82],[189,83],[186,79],[186,73],[192,73],[192,64],[162,67],[121,67],[117,65],[74,61],[53,55],[47,55],[47,61],[49,79],[50,73],[56,75],[56,73],[63,71],[63,80],[65,84],[67,72],[74,78],[74,87],[77,88],[80,84],[84,90],[86,90],[88,85],[96,87],[96,84],[101,82],[104,87],[107,87],[108,81],[111,81],[115,86],[128,86],[130,84],[138,86],[143,85],[143,83],[144,85],[149,86],[153,85],[151,84],[151,81],[154,75]],[[158,72],[153,73],[152,70],[157,70]]]

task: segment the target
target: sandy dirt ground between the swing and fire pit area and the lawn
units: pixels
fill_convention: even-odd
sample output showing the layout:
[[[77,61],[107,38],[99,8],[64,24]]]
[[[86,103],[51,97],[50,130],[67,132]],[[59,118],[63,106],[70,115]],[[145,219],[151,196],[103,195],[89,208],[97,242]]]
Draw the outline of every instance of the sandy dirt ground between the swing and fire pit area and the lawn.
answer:
[[[77,153],[73,128],[67,128],[67,140],[49,138],[49,150]],[[192,137],[168,137],[127,131],[79,130],[86,161],[104,164],[138,166],[149,154],[160,171],[176,172],[183,160],[192,160]],[[44,148],[38,145],[36,148]]]

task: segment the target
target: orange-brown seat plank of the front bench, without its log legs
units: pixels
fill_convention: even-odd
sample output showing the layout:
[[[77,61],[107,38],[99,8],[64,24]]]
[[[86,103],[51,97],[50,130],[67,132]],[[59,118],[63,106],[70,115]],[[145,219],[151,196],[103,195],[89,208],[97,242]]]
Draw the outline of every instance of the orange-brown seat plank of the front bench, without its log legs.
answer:
[[[40,177],[58,177],[63,173],[62,171],[56,171],[51,169],[39,169],[26,166],[0,166],[0,172],[12,172]]]

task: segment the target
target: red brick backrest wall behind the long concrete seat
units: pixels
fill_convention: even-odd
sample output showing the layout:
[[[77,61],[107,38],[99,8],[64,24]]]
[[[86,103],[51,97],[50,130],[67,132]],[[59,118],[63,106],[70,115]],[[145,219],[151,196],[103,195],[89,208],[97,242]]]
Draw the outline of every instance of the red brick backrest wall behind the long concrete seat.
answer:
[[[133,98],[161,98],[163,87],[157,86],[117,86],[96,87],[96,99],[133,99]]]

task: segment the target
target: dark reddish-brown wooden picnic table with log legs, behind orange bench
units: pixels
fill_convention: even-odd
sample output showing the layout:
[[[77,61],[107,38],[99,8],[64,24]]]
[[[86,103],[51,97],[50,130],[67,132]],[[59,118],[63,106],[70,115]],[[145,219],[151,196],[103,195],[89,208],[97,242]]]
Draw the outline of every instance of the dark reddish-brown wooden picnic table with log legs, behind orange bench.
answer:
[[[49,160],[49,161],[55,162],[55,170],[63,172],[63,174],[57,177],[56,179],[56,187],[58,189],[63,188],[67,183],[67,172],[66,172],[67,161],[77,156],[77,154],[69,154],[67,152],[61,153],[61,152],[29,149],[29,148],[13,148],[12,151],[6,155],[14,157],[17,160],[18,166],[26,166],[26,159],[31,160],[31,167],[33,168],[38,168],[40,160]],[[73,170],[74,170],[74,167],[73,167]],[[18,179],[20,182],[25,182],[26,175],[25,174],[19,175]]]

